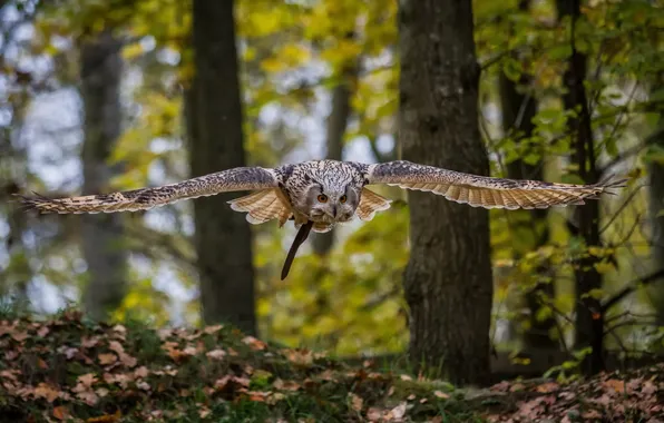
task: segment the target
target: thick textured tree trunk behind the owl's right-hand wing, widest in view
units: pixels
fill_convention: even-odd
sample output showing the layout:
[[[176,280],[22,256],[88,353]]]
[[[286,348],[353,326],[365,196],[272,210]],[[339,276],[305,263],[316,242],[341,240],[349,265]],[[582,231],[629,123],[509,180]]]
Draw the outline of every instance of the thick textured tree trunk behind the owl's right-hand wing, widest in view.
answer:
[[[471,2],[404,0],[399,7],[403,158],[487,175]],[[410,191],[409,203],[412,247],[403,285],[410,361],[452,383],[486,383],[492,301],[488,213],[430,193]]]

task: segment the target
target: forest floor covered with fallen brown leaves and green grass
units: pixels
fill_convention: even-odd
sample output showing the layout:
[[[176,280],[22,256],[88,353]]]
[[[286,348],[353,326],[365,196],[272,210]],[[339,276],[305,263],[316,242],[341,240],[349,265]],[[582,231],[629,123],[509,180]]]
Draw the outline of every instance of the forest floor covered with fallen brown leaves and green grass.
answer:
[[[664,422],[664,364],[455,388],[224,326],[0,315],[2,422]]]

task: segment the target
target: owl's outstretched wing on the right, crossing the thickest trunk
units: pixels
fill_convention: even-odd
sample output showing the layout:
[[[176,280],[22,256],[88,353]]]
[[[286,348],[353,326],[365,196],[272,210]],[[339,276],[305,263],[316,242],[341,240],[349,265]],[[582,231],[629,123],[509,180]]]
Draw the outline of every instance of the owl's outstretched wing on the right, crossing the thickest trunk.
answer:
[[[369,184],[396,185],[431,191],[447,199],[484,208],[547,208],[582,205],[607,188],[624,187],[626,179],[590,185],[553,184],[537,180],[491,178],[398,160],[369,165]]]

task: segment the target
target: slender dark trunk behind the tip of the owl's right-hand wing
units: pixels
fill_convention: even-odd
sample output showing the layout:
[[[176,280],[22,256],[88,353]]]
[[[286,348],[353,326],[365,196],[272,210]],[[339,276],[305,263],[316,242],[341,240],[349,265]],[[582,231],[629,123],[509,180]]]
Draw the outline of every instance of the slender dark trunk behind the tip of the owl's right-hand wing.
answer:
[[[570,18],[572,56],[567,70],[563,76],[566,92],[563,104],[567,110],[576,110],[576,115],[567,121],[568,131],[574,137],[576,150],[574,161],[578,165],[578,173],[585,184],[597,181],[595,164],[595,146],[588,100],[584,80],[586,78],[586,56],[575,48],[575,21],[580,16],[580,0],[557,0],[560,19]],[[599,201],[587,201],[575,208],[576,233],[586,247],[599,246]],[[602,288],[602,275],[595,268],[595,257],[580,258],[575,262],[576,302],[575,302],[575,346],[577,348],[590,346],[593,352],[583,363],[586,374],[595,374],[604,370],[604,315],[599,301],[587,293]]]

